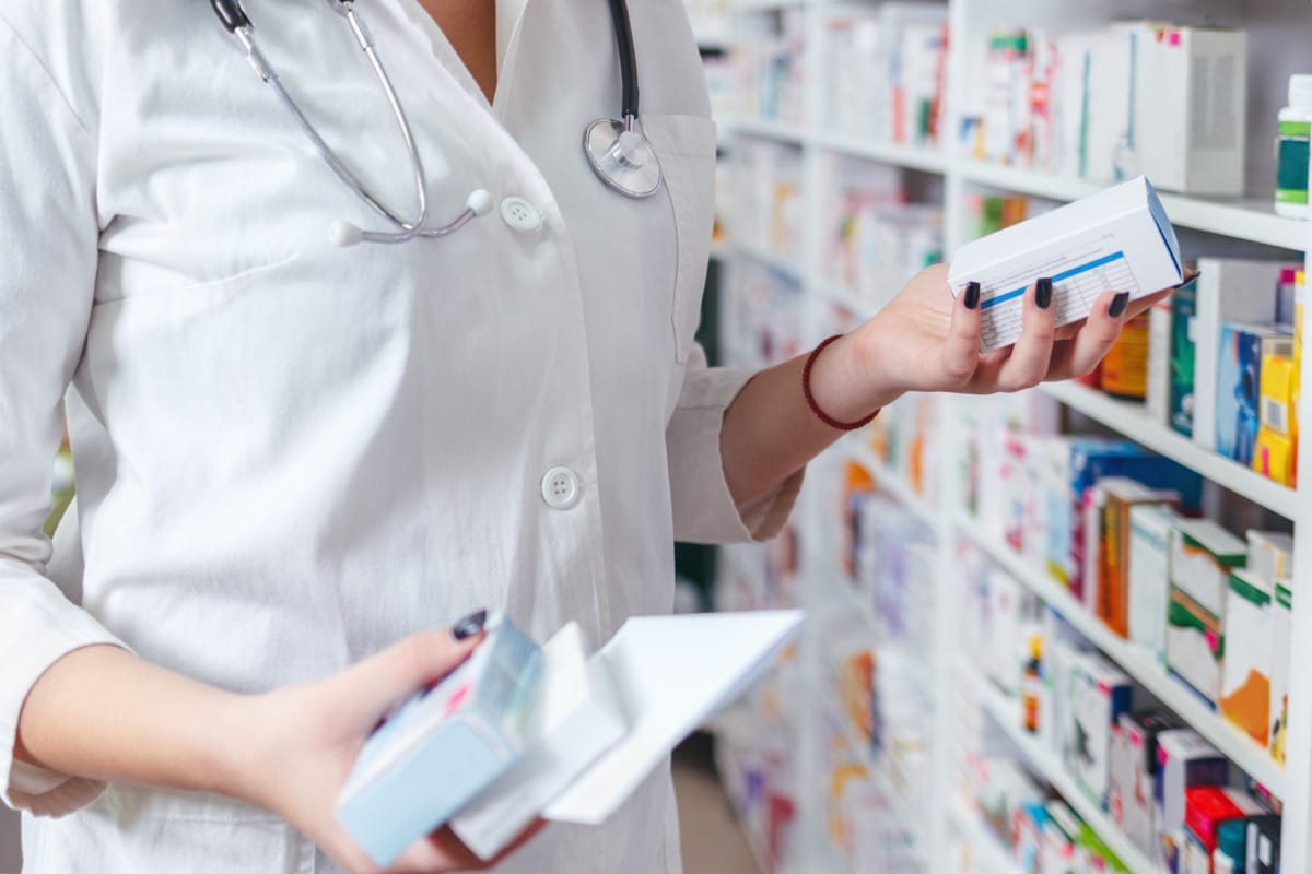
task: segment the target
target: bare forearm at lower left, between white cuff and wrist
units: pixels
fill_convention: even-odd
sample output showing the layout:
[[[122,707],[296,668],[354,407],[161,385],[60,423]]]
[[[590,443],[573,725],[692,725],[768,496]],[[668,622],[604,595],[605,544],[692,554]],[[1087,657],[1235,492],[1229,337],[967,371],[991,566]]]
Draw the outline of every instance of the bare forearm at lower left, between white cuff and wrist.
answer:
[[[55,662],[28,693],[18,760],[92,780],[237,794],[234,763],[245,698],[88,646]]]

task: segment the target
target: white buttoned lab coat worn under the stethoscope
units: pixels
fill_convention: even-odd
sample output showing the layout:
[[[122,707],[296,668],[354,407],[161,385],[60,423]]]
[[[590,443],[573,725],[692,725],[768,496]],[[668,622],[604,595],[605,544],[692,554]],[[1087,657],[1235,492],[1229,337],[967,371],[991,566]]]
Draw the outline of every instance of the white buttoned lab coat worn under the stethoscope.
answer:
[[[682,0],[630,7],[666,178],[647,200],[581,152],[619,105],[605,0],[502,0],[491,107],[415,0],[362,3],[434,219],[485,187],[541,227],[493,210],[450,238],[353,249],[329,245],[333,221],[391,228],[207,4],[0,9],[0,791],[63,815],[25,818],[26,870],[335,870],[231,801],[16,765],[22,701],[72,649],[117,642],[255,692],[479,607],[602,641],[670,608],[673,539],[782,524],[800,477],[733,506],[719,430],[748,375],[707,370],[693,339],[715,128]],[[344,22],[323,0],[247,8],[328,142],[409,211]],[[39,536],[66,389],[80,584],[51,582]],[[657,774],[604,828],[552,827],[504,870],[676,871],[674,823]]]

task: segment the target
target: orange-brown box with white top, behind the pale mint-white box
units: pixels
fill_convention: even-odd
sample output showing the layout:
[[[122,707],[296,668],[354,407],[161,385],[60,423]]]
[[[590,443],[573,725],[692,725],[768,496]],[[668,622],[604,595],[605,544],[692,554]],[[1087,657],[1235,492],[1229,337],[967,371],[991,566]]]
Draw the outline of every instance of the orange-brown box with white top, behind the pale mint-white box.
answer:
[[[1090,491],[1096,514],[1086,532],[1098,544],[1093,612],[1103,625],[1130,637],[1130,514],[1138,506],[1176,502],[1179,495],[1143,486],[1127,477],[1099,480]],[[1166,579],[1165,577],[1162,579]]]

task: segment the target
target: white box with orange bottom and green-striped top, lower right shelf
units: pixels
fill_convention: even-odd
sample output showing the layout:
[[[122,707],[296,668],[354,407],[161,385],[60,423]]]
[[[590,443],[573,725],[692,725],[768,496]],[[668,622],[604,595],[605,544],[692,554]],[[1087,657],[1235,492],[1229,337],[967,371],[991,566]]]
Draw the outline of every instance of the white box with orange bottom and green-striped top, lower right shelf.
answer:
[[[1269,740],[1271,715],[1274,595],[1274,583],[1242,570],[1231,571],[1220,712],[1263,747]]]

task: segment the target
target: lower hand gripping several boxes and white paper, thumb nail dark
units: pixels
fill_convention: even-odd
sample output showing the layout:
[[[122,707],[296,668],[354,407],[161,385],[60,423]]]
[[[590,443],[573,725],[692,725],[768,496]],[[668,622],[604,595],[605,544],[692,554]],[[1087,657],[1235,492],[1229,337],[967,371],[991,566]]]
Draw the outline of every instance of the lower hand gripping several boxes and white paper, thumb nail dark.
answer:
[[[350,874],[382,874],[337,823],[337,794],[365,740],[391,709],[450,674],[482,638],[480,630],[463,639],[450,632],[419,634],[325,680],[251,700],[249,748],[234,794],[287,819]],[[530,828],[506,854],[539,828]],[[411,845],[386,873],[491,865],[443,828]]]

